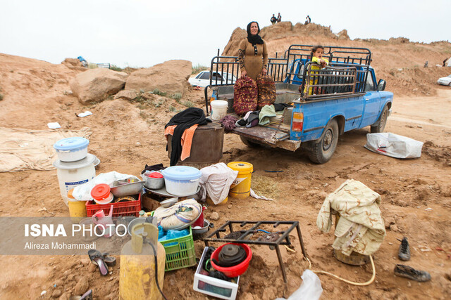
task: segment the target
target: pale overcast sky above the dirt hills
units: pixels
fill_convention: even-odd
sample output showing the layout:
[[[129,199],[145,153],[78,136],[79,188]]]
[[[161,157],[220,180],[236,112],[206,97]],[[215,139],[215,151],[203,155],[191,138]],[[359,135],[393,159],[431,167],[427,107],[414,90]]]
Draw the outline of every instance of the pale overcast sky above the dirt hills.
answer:
[[[293,25],[308,14],[351,39],[451,41],[450,0],[0,0],[0,53],[119,67],[209,65],[235,28],[251,20],[268,26],[279,12]]]

